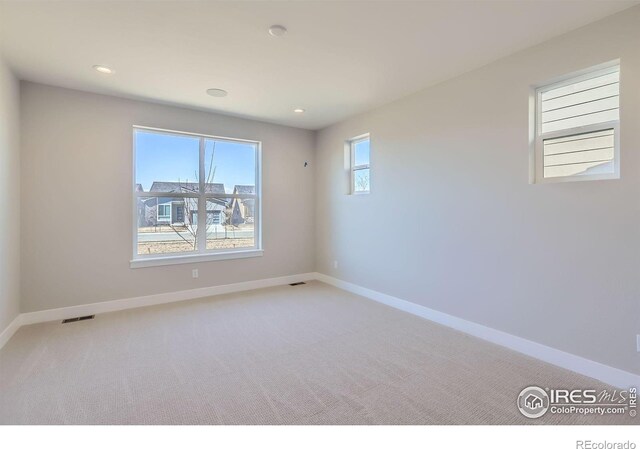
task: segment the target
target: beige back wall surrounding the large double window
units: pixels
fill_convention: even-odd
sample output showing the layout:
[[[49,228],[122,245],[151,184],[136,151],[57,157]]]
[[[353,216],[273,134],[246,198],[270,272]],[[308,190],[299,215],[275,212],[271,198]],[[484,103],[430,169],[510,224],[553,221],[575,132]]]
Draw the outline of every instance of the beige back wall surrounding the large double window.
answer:
[[[312,132],[28,82],[21,104],[23,312],[313,271]],[[262,141],[263,257],[129,268],[134,124]]]

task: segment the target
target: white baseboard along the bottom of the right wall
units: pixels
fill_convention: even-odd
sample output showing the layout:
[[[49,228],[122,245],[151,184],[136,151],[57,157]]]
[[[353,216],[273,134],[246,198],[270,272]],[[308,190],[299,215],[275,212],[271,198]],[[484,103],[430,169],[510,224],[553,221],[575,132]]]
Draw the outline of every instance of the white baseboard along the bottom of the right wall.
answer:
[[[473,335],[474,337],[478,337],[482,340],[504,346],[538,360],[597,379],[618,388],[640,386],[640,376],[618,368],[603,365],[602,363],[594,362],[593,360],[585,359],[559,349],[551,348],[481,324],[438,312],[437,310],[405,301],[391,295],[351,284],[349,282],[327,276],[326,274],[316,273],[315,278],[348,292],[355,293],[356,295],[364,296],[365,298],[372,299],[393,308],[426,318],[435,323],[464,332],[465,334]]]

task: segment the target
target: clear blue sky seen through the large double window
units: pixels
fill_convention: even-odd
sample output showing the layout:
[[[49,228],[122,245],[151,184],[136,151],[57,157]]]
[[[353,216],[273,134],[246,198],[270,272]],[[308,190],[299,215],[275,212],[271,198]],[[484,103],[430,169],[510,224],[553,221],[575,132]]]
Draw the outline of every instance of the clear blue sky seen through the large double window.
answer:
[[[145,192],[154,181],[198,181],[198,137],[138,130],[135,145],[136,183],[142,184]],[[227,193],[233,193],[235,185],[255,185],[252,144],[206,139],[205,175],[211,172],[211,165],[215,167],[215,174],[210,182],[224,184]]]

